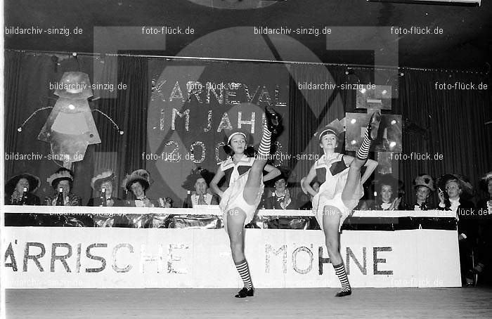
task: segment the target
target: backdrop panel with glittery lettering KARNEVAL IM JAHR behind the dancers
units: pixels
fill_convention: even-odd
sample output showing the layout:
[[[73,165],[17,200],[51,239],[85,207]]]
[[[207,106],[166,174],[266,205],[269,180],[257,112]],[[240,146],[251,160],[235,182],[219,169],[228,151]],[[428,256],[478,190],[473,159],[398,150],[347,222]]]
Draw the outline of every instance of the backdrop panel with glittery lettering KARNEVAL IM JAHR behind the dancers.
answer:
[[[181,188],[191,169],[216,171],[232,130],[261,140],[264,107],[288,119],[288,72],[284,65],[151,60],[146,167],[154,183],[150,197],[186,197]],[[288,125],[278,137],[273,164],[287,164]],[[179,204],[179,202],[178,202]]]

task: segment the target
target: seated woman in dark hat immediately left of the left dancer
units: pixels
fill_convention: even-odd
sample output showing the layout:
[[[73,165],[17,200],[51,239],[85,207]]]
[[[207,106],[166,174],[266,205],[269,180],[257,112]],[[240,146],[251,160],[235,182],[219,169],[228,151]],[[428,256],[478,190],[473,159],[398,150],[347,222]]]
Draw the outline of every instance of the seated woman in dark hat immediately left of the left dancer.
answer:
[[[183,201],[183,207],[195,207],[196,205],[218,205],[219,200],[209,190],[209,183],[214,178],[214,173],[198,167],[193,169],[186,177],[183,188],[189,190],[190,196]],[[188,202],[190,201],[190,202]]]

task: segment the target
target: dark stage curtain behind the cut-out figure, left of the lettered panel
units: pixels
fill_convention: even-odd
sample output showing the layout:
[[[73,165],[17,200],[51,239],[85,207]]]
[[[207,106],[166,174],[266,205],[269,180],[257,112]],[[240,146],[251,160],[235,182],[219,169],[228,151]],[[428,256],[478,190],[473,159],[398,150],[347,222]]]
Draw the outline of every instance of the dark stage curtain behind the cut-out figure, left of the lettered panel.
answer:
[[[93,63],[103,63],[102,74],[93,76]],[[18,131],[18,127],[29,115],[39,108],[52,107],[57,96],[53,95],[50,84],[60,80],[63,72],[80,71],[89,74],[91,84],[105,84],[117,70],[117,82],[127,84],[126,90],[117,90],[113,98],[99,98],[104,92],[94,91],[94,100],[89,103],[91,110],[101,110],[111,117],[124,135],[119,135],[115,126],[101,113],[93,111],[93,117],[101,136],[101,144],[89,145],[82,162],[75,162],[73,193],[82,196],[83,203],[92,195],[91,178],[98,169],[114,169],[117,182],[124,174],[134,169],[145,168],[141,159],[145,151],[146,119],[148,103],[147,60],[145,58],[119,57],[99,58],[79,56],[51,56],[18,51],[5,51],[5,152],[41,155],[51,154],[48,143],[38,141],[37,136],[48,119],[51,109],[41,110]],[[96,68],[97,69],[97,68]],[[116,86],[116,84],[115,84]],[[60,167],[46,157],[39,160],[12,160],[5,162],[6,180],[21,172],[30,172],[41,178],[37,195],[41,200],[53,190],[46,178]],[[122,196],[122,188],[118,195]]]

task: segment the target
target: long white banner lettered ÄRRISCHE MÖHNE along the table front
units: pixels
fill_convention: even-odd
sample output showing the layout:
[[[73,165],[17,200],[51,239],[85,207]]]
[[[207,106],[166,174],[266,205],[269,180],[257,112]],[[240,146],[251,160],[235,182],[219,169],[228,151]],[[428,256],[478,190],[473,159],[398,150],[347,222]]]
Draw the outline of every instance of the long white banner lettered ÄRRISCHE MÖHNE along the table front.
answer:
[[[255,287],[339,287],[321,230],[246,230]],[[459,287],[455,230],[344,231],[353,287]],[[5,288],[242,287],[223,229],[6,227]]]

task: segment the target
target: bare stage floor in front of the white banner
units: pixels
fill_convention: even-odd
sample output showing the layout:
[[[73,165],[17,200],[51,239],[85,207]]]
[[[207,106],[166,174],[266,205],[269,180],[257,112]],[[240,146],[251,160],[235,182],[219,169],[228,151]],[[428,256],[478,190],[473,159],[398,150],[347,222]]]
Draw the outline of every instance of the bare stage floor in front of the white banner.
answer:
[[[491,288],[8,289],[10,318],[491,318]]]

